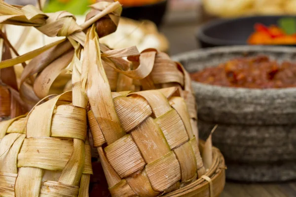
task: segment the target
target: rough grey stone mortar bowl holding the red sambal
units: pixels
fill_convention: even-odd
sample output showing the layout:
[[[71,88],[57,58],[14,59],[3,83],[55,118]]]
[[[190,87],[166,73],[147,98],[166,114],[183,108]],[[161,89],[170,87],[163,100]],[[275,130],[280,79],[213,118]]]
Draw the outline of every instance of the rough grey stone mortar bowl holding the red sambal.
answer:
[[[296,48],[228,46],[175,56],[187,71],[217,66],[237,57],[266,55],[296,61]],[[296,179],[296,88],[247,89],[192,81],[198,106],[199,135],[213,134],[224,155],[226,178],[248,182]]]

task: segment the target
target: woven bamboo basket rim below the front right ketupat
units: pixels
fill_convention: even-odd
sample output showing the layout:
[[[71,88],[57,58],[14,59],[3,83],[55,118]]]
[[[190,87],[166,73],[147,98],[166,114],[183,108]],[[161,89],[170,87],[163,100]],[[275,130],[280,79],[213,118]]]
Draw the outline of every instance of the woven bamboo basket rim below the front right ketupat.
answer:
[[[203,140],[199,140],[200,150],[204,148],[204,144],[205,142]],[[215,190],[215,187],[217,187],[217,182],[215,182],[215,180],[222,179],[222,182],[218,182],[222,185],[222,187],[220,187],[220,189],[218,188],[218,190],[213,194],[215,197],[219,196],[223,191],[225,185],[225,169],[226,166],[222,153],[218,148],[213,147],[213,164],[205,175],[211,178],[213,182],[213,190]],[[209,190],[209,187],[210,186],[208,181],[203,178],[199,178],[189,185],[180,188],[179,190],[168,193],[163,197],[181,197],[185,195],[196,196],[199,193],[203,192],[203,190]],[[203,188],[203,190],[201,190],[201,188]]]

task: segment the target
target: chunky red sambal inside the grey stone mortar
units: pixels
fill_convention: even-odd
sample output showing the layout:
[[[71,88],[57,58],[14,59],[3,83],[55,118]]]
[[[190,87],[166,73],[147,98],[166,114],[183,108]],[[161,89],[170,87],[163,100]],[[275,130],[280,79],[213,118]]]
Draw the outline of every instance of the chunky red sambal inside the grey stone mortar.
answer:
[[[237,58],[190,75],[194,81],[217,86],[259,89],[296,87],[296,64],[279,64],[266,56]]]

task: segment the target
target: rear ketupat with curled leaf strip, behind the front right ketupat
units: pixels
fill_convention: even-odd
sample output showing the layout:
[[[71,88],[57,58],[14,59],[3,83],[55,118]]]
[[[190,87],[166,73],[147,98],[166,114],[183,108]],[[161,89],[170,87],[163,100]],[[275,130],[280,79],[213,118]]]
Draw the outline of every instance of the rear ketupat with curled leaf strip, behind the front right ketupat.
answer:
[[[189,110],[191,127],[198,139],[195,97],[191,79],[184,67],[172,61],[168,55],[155,49],[147,49],[140,55],[135,49],[110,50],[100,44],[102,64],[110,83],[111,91],[140,91],[166,87],[178,87]],[[137,54],[130,55],[129,54]],[[130,62],[121,57],[128,56]]]

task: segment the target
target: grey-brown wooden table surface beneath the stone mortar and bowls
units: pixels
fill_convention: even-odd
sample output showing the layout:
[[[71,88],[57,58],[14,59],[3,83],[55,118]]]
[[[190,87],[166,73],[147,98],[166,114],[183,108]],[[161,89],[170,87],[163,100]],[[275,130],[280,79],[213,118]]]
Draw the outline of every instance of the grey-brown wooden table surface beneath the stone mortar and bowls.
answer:
[[[170,42],[170,55],[197,49],[198,44],[195,38],[197,29],[198,22],[164,24],[160,31],[167,36]],[[296,197],[296,181],[278,184],[226,182],[221,197]]]

